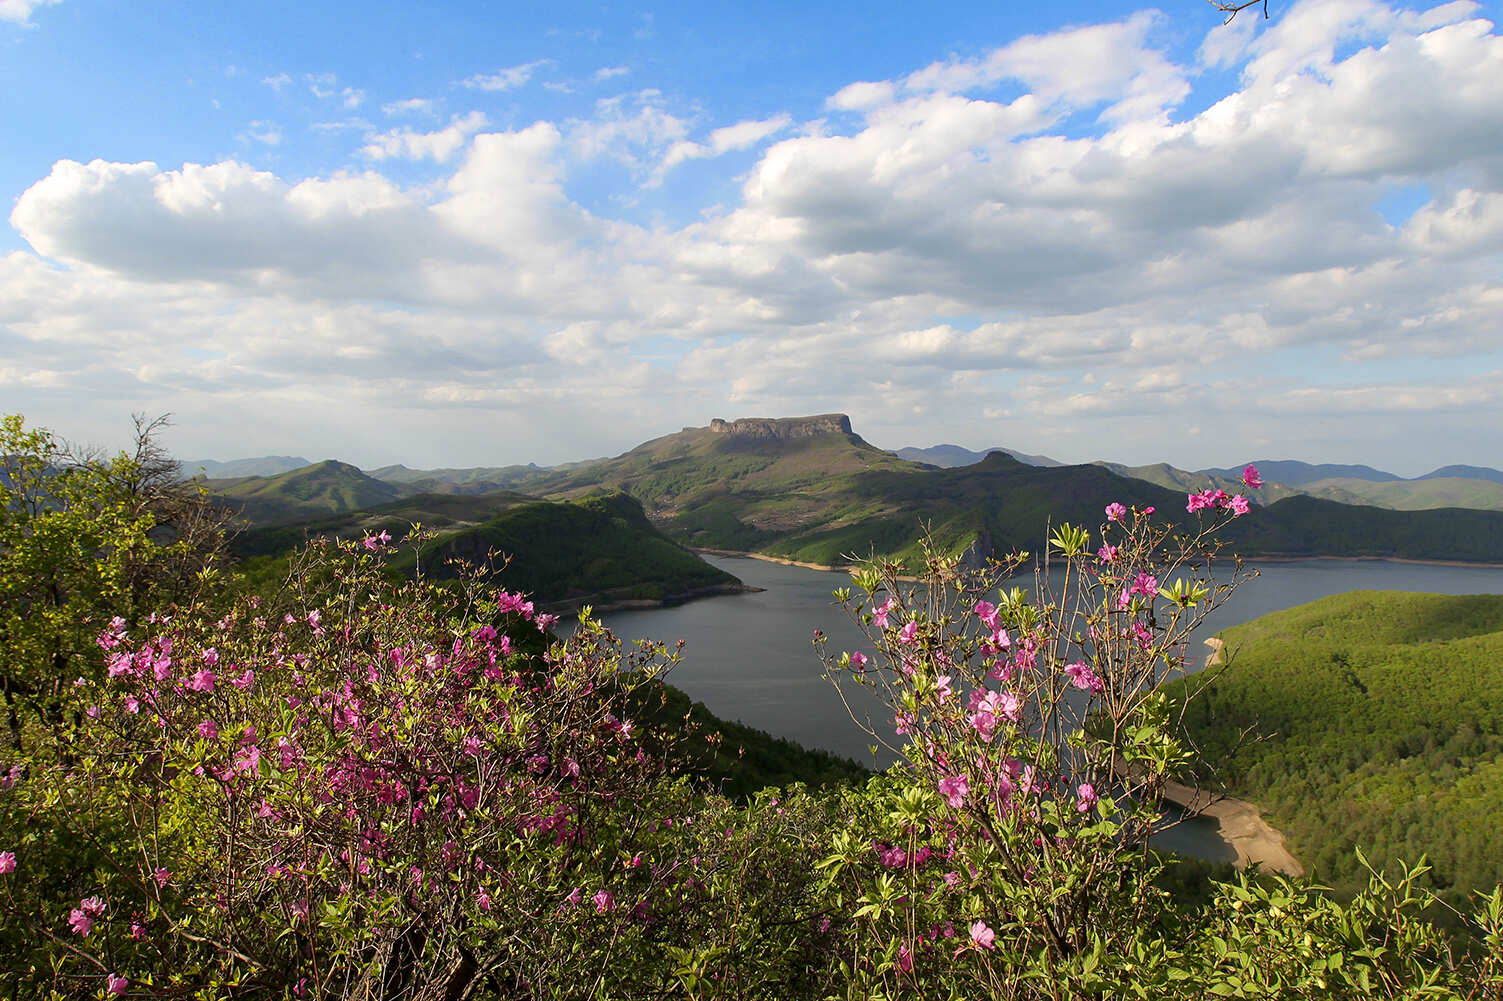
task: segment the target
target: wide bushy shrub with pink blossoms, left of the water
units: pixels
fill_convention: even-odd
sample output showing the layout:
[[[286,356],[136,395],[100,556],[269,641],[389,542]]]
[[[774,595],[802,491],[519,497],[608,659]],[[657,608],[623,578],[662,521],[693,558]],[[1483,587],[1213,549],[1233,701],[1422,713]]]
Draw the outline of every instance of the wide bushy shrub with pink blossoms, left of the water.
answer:
[[[724,972],[666,948],[714,945],[715,897],[786,869],[762,819],[786,807],[709,810],[669,774],[672,736],[625,706],[673,655],[622,654],[586,616],[526,657],[513,637],[549,625],[529,601],[392,588],[383,544],[313,553],[286,607],[99,634],[107,678],[75,688],[69,764],[33,795],[126,837],[84,899],[35,915],[57,990],[622,996]],[[782,927],[798,885],[735,917],[777,902]]]

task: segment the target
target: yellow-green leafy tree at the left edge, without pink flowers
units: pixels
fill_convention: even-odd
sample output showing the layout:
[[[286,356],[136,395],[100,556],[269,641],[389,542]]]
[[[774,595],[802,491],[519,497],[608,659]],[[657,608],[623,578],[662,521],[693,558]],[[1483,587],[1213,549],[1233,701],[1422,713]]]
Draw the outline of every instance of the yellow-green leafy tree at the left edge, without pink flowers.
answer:
[[[135,418],[131,451],[72,446],[0,419],[0,691],[11,742],[54,726],[60,694],[104,664],[95,637],[191,603],[225,552],[227,513],[179,478],[165,416]]]

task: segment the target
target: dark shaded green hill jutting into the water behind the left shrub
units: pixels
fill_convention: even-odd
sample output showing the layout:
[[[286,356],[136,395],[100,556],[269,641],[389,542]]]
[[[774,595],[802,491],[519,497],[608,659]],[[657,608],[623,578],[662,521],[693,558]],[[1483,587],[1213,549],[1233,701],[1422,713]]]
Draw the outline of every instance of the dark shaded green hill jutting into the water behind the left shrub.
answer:
[[[313,537],[361,538],[388,532],[403,540],[413,523],[436,531],[421,555],[406,552],[392,568],[443,574],[448,559],[479,564],[511,558],[502,583],[550,607],[613,601],[673,601],[739,582],[658,532],[642,505],[622,493],[573,502],[519,493],[418,494],[362,511],[251,529],[234,541],[246,576],[275,585],[287,555]]]

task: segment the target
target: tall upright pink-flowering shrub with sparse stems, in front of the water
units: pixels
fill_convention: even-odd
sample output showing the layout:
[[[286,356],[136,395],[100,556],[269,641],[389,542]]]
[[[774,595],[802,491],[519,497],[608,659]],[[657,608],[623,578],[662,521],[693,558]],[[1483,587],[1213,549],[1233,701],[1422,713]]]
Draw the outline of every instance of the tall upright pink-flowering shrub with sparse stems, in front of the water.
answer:
[[[1121,504],[1096,547],[1060,526],[1063,576],[1040,570],[1031,595],[998,588],[1025,556],[971,571],[929,553],[906,586],[896,565],[852,574],[839,597],[869,651],[827,664],[890,706],[891,729],[870,732],[906,764],[821,863],[866,930],[863,990],[1097,990],[1103,959],[1141,944],[1166,903],[1147,843],[1172,822],[1163,782],[1190,759],[1154,687],[1252,573],[1222,561],[1213,579],[1214,534],[1246,500],[1187,507],[1208,517],[1184,537]]]

